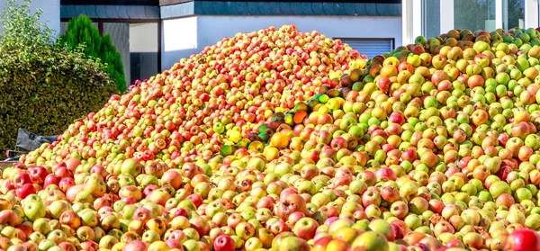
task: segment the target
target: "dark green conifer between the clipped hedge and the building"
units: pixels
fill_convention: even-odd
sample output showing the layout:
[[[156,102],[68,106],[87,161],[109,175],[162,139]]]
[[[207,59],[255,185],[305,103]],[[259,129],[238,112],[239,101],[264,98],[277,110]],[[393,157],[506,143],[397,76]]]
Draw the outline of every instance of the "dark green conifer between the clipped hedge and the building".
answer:
[[[121,63],[121,55],[112,44],[111,36],[107,34],[102,37],[89,17],[80,15],[71,19],[67,24],[66,34],[60,40],[72,49],[84,45],[83,52],[85,55],[100,58],[118,90],[121,93],[126,91],[126,78]]]

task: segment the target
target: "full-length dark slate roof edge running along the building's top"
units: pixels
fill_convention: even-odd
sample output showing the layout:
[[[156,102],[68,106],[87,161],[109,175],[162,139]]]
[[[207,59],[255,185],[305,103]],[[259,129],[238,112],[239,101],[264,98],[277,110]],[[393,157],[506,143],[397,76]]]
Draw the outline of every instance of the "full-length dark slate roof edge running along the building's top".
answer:
[[[322,7],[324,6],[324,8]],[[344,9],[346,8],[346,9]],[[106,10],[103,13],[103,10]],[[358,10],[362,10],[358,12]],[[148,5],[61,5],[60,18],[86,14],[90,18],[159,20],[191,15],[336,15],[336,16],[401,16],[401,4],[363,4],[328,2],[272,1],[192,1],[181,4]]]

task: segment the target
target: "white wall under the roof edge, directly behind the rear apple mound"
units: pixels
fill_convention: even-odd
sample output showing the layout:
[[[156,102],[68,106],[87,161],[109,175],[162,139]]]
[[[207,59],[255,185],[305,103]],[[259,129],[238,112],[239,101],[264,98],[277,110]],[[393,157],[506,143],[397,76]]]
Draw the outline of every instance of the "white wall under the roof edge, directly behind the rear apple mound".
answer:
[[[196,23],[196,24],[193,24]],[[162,66],[171,67],[205,46],[237,32],[295,24],[300,31],[320,31],[329,38],[393,38],[402,44],[401,16],[197,16],[166,20],[163,25]],[[360,51],[362,52],[362,51]]]

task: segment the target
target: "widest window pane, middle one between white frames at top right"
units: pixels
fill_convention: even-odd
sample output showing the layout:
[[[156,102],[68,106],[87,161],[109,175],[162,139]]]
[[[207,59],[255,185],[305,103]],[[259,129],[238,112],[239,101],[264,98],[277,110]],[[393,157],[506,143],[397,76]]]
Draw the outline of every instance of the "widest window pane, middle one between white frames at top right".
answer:
[[[455,0],[454,28],[495,31],[495,0]]]

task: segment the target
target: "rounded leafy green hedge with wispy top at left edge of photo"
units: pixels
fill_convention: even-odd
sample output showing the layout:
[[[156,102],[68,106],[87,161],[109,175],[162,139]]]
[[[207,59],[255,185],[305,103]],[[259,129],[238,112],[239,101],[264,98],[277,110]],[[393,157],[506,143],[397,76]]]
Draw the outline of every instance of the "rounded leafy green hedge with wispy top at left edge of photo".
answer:
[[[15,1],[0,16],[0,149],[14,148],[18,128],[60,134],[117,93],[102,64],[55,43],[30,0]]]

